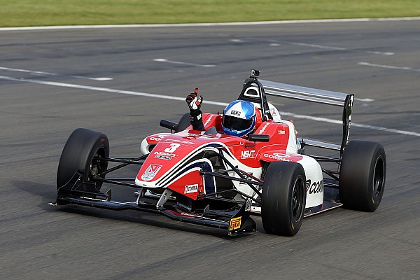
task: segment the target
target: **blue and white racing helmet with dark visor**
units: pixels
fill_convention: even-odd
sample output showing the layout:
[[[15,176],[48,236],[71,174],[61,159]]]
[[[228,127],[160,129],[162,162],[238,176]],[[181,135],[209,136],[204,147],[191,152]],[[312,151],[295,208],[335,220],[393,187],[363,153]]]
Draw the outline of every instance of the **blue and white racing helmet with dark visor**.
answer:
[[[256,109],[251,102],[235,100],[223,110],[222,129],[225,134],[242,137],[253,131]]]

